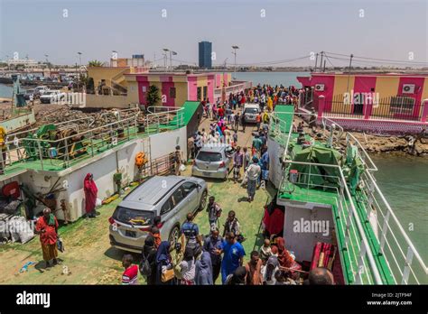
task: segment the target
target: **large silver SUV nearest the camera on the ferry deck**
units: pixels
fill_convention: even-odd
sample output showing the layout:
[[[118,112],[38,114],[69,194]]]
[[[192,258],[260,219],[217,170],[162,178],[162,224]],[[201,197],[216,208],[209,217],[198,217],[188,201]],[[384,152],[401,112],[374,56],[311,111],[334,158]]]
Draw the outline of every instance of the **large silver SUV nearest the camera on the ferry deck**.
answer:
[[[110,223],[110,244],[141,253],[154,217],[162,217],[161,237],[172,245],[188,213],[205,208],[207,183],[199,178],[155,176],[129,193],[116,207]]]

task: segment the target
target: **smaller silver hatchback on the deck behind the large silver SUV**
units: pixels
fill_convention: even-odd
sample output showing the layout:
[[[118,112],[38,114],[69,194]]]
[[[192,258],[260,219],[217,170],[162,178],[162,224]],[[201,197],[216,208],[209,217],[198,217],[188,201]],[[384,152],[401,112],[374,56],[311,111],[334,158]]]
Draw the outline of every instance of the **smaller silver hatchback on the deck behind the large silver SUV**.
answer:
[[[207,178],[228,179],[232,169],[233,151],[228,144],[207,144],[203,146],[191,167],[191,175]]]

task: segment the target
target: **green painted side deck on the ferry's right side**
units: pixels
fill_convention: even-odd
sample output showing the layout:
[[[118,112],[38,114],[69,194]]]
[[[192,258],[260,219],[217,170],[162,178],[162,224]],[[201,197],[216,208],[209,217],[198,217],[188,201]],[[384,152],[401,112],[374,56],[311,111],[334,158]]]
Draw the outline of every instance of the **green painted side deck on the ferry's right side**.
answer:
[[[285,121],[287,127],[284,127],[280,124],[281,132],[288,134],[290,128],[293,127],[293,106],[276,106],[275,114],[277,113],[277,117],[279,117],[282,121]],[[302,146],[296,144],[296,138],[298,134],[292,133],[292,138],[290,139],[290,148],[292,149],[292,155],[295,156],[297,152],[302,151]],[[311,137],[306,135],[306,138],[309,140]],[[325,146],[324,143],[320,141],[315,141],[314,145],[316,146]],[[283,181],[286,180],[286,176],[284,176]],[[374,254],[374,259],[377,264],[377,270],[380,273],[382,278],[382,282],[384,284],[394,284],[394,278],[389,266],[386,263],[385,256],[379,254],[379,242],[377,240],[377,236],[375,235],[372,226],[367,218],[367,209],[364,205],[363,193],[357,190],[356,195],[352,196],[351,199],[344,199],[342,204],[342,208],[340,209],[340,193],[339,187],[338,189],[323,189],[317,187],[311,187],[303,184],[293,184],[287,183],[287,190],[293,188],[292,193],[290,192],[279,192],[278,199],[288,199],[296,202],[302,203],[314,203],[327,205],[331,207],[333,220],[335,224],[336,230],[336,238],[340,252],[340,261],[342,266],[342,272],[345,279],[345,282],[348,284],[354,283],[356,278],[356,272],[358,271],[358,256],[359,256],[359,245],[362,241],[362,236],[359,234],[356,217],[353,215],[350,219],[349,224],[349,243],[346,245],[346,235],[347,235],[347,217],[349,216],[349,211],[351,211],[350,203],[354,204],[358,212],[358,218],[361,222],[364,233],[368,238],[368,243],[372,252],[377,253]],[[341,210],[341,211],[340,211]],[[364,259],[363,263],[368,265],[368,257]],[[373,273],[370,271],[369,267],[367,267],[369,272],[363,272],[361,275],[363,284],[373,284],[375,282]]]

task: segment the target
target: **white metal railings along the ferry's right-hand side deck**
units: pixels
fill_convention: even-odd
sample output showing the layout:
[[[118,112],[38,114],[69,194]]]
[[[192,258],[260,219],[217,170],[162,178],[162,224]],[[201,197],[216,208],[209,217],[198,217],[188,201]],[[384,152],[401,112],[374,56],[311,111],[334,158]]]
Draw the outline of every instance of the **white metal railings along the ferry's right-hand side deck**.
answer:
[[[290,115],[293,115],[290,113]],[[302,114],[300,114],[302,115]],[[303,114],[304,115],[304,114]],[[277,117],[276,117],[277,118]],[[277,118],[278,119],[278,118]],[[275,128],[274,120],[271,120],[271,125],[274,126],[275,132],[281,132],[281,128]],[[282,123],[285,123],[283,120]],[[339,129],[340,133],[335,136],[334,129],[331,132],[331,125],[335,125],[334,129]],[[332,143],[337,145],[342,143],[342,135],[344,134],[343,129],[340,125],[332,122],[330,119],[322,118],[321,125],[324,129],[330,128],[330,137],[332,138]],[[291,163],[299,163],[293,162],[292,157],[287,155],[287,150],[289,147],[289,142],[292,139],[291,130],[293,129],[293,125],[289,126],[288,134],[284,133],[284,136],[280,136],[279,134],[275,134],[273,136],[274,140],[280,138],[285,143],[285,151],[283,162],[284,164]],[[283,128],[283,130],[287,130],[287,128]],[[270,130],[271,131],[271,130]],[[333,135],[333,136],[331,136]],[[330,143],[331,143],[330,142]],[[409,236],[406,234],[404,227],[401,225],[398,218],[395,216],[393,209],[389,206],[385,196],[382,194],[382,191],[378,188],[375,177],[372,172],[377,171],[376,164],[372,161],[368,152],[364,149],[364,147],[358,142],[354,135],[350,133],[346,133],[346,147],[349,148],[350,145],[354,145],[358,148],[357,150],[357,158],[364,164],[365,170],[362,172],[360,180],[359,180],[359,192],[360,195],[358,197],[358,202],[360,202],[360,206],[364,207],[367,213],[367,218],[370,213],[373,211],[375,213],[376,221],[372,224],[372,228],[375,231],[377,227],[381,230],[380,235],[377,235],[377,242],[380,247],[380,252],[371,252],[368,250],[370,247],[368,246],[368,239],[365,234],[364,229],[362,228],[361,221],[358,217],[358,213],[354,204],[354,200],[351,198],[349,193],[347,181],[343,175],[343,172],[339,165],[322,165],[319,163],[307,163],[311,166],[326,166],[326,167],[335,167],[340,171],[340,189],[344,189],[345,196],[349,199],[350,211],[352,216],[355,218],[355,222],[358,226],[358,232],[363,235],[362,236],[362,248],[363,250],[358,248],[361,255],[366,255],[368,253],[368,261],[370,263],[370,267],[373,268],[375,272],[377,271],[377,265],[374,263],[374,256],[377,254],[383,254],[386,260],[386,263],[389,266],[389,270],[394,278],[395,283],[397,284],[407,284],[407,283],[428,283],[428,268],[426,264],[423,262],[421,255],[418,253],[414,244],[410,240]],[[303,163],[304,164],[304,163]],[[313,174],[312,174],[313,176]],[[288,173],[284,173],[284,178],[282,182],[286,182],[288,179]],[[283,183],[282,183],[283,184]],[[280,189],[283,185],[280,186]],[[308,187],[309,188],[309,187]],[[330,187],[328,187],[330,188]],[[343,197],[342,193],[339,193],[341,197]],[[346,202],[340,202],[346,206]],[[347,230],[349,230],[348,226],[349,219],[347,218]],[[364,252],[366,251],[366,252]],[[363,260],[362,260],[363,261]],[[414,263],[416,261],[416,263]],[[359,271],[358,271],[359,272]],[[375,273],[375,283],[379,283],[377,275]]]

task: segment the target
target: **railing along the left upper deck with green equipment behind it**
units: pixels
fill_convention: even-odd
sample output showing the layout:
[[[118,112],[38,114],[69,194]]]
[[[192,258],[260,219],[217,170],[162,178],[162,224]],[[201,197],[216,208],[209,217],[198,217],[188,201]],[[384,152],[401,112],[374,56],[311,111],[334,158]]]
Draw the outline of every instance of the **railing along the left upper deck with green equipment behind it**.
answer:
[[[13,173],[17,166],[60,171],[138,136],[179,128],[184,125],[183,110],[181,107],[150,107],[145,116],[135,109],[109,111],[97,121],[87,117],[56,124],[51,131],[47,128],[42,137],[34,135],[39,129],[9,134],[5,159],[0,152],[0,164],[5,174]]]

